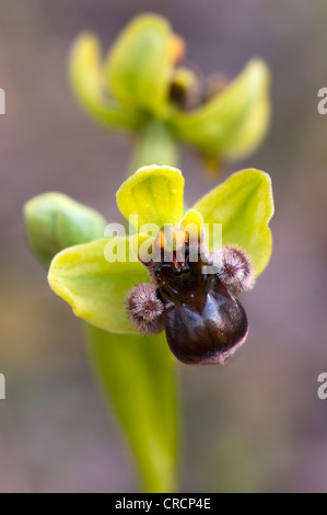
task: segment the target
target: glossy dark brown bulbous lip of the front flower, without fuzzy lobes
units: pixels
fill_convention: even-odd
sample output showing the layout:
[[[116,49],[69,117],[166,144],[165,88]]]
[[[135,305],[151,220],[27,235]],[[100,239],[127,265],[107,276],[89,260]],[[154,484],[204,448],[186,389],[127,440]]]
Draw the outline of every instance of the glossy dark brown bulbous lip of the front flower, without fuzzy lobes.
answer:
[[[176,268],[155,266],[163,322],[174,355],[187,364],[224,364],[248,332],[245,310],[202,259]]]

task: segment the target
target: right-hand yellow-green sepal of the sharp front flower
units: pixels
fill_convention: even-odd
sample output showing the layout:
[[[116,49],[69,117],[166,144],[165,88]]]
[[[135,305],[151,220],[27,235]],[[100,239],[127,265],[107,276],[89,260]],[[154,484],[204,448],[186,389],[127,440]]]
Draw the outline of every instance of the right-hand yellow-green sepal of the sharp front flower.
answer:
[[[247,251],[256,275],[267,266],[272,249],[269,221],[273,215],[270,176],[243,170],[203,196],[195,206],[209,224],[222,224],[223,245]],[[212,239],[211,239],[212,240]]]

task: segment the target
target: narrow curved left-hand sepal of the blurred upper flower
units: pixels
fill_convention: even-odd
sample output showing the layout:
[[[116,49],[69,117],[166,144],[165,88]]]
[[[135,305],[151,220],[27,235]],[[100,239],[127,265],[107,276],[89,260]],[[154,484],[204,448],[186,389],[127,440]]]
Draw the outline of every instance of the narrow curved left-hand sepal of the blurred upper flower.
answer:
[[[140,114],[109,100],[104,93],[101,45],[95,34],[83,32],[78,36],[71,49],[69,68],[73,91],[93,118],[116,129],[138,128]]]

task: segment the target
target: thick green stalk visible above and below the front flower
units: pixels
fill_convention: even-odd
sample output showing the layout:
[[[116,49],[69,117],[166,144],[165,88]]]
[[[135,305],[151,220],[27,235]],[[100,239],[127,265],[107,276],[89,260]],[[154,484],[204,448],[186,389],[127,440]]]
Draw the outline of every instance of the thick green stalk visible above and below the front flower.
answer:
[[[177,165],[168,127],[151,122],[139,135],[129,173],[147,164]],[[86,327],[89,353],[124,427],[147,492],[176,491],[179,405],[175,360],[164,334],[121,335]]]

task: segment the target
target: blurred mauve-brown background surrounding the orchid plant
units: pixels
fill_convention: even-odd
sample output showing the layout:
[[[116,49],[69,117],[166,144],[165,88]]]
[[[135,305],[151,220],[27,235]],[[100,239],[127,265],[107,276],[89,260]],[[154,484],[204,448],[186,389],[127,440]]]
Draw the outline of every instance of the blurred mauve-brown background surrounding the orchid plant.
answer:
[[[67,57],[83,28],[107,47],[135,14],[170,18],[205,72],[253,56],[273,73],[273,119],[247,165],[272,176],[273,258],[244,298],[250,335],[222,367],[182,367],[183,491],[326,492],[327,87],[325,0],[0,0],[0,492],[133,492],[132,464],[85,359],[80,323],[26,248],[21,210],[55,190],[117,219],[128,141],[80,111]],[[203,179],[185,149],[191,204]],[[223,179],[223,178],[221,178]]]

